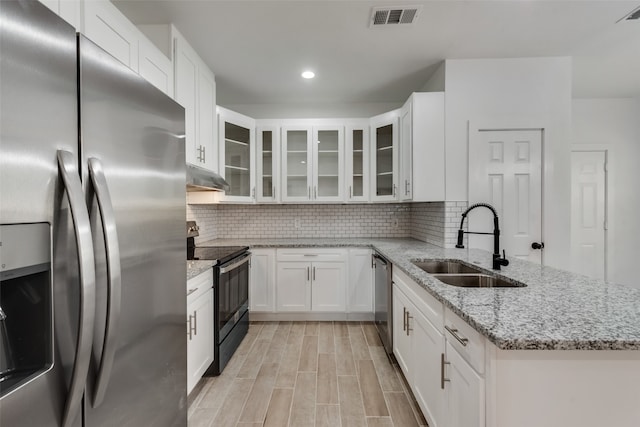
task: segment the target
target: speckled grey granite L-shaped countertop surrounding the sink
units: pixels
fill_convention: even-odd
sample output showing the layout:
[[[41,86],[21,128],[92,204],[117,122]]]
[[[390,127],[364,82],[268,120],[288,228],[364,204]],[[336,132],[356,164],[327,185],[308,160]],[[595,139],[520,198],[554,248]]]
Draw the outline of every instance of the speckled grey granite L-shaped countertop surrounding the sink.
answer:
[[[640,289],[629,286],[509,257],[509,266],[494,272],[489,252],[414,239],[219,239],[198,246],[228,245],[372,247],[500,349],[640,350]],[[450,286],[411,263],[424,259],[458,259],[527,287]]]

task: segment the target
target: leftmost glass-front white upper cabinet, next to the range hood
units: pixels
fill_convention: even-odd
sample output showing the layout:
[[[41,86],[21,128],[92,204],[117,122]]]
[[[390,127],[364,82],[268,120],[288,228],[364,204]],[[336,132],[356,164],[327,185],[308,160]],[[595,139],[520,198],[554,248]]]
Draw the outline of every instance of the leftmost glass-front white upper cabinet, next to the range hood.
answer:
[[[223,202],[255,201],[255,120],[218,107],[220,174],[229,183]]]

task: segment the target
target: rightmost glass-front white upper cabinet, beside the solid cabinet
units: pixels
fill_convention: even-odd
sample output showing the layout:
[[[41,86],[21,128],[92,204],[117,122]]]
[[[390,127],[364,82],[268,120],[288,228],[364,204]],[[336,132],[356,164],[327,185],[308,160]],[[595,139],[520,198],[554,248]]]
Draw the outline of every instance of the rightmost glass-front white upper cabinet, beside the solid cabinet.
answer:
[[[394,110],[371,118],[371,201],[398,200],[398,116]]]

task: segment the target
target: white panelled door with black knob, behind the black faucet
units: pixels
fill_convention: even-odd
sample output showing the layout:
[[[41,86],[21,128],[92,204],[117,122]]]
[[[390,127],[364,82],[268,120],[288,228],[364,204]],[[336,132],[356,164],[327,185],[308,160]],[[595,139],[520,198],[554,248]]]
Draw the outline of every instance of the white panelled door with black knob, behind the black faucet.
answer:
[[[542,263],[542,130],[477,130],[469,140],[469,206],[498,211],[500,249],[508,258]],[[492,232],[493,216],[476,209],[469,231]],[[491,236],[470,234],[469,247],[493,251]]]

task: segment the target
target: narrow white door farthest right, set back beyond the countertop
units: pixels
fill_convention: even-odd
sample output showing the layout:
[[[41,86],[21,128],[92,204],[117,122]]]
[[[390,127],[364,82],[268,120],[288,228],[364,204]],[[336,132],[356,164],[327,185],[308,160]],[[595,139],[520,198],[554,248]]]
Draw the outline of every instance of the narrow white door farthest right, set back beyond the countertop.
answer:
[[[606,153],[571,153],[571,265],[606,280]]]

